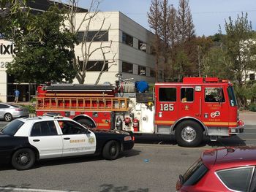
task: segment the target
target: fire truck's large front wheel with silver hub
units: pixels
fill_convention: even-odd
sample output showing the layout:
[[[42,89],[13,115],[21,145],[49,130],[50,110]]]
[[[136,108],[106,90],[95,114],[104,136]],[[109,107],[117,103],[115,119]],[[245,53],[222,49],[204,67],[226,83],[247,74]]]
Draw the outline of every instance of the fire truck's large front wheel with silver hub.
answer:
[[[196,147],[203,140],[203,128],[193,120],[186,120],[176,127],[175,137],[180,146]]]

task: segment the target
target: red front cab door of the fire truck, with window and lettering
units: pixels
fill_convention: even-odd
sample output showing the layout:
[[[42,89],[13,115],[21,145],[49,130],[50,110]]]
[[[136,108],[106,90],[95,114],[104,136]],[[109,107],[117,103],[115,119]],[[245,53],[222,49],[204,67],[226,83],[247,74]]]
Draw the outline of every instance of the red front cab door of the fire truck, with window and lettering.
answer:
[[[225,98],[223,88],[208,86],[204,88],[202,104],[203,123],[210,127],[228,126],[228,98]]]

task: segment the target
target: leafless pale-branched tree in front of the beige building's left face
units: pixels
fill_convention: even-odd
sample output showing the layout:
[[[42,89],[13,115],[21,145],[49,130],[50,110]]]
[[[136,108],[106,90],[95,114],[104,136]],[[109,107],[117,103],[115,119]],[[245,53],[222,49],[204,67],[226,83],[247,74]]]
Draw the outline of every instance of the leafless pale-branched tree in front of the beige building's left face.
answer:
[[[67,6],[69,9],[67,16],[70,31],[72,34],[76,35],[78,35],[78,32],[81,34],[81,31],[83,31],[83,36],[80,37],[81,57],[78,56],[78,53],[75,53],[73,62],[74,69],[77,72],[76,78],[80,84],[85,82],[86,72],[88,72],[89,69],[102,64],[102,62],[96,61],[92,66],[89,66],[89,61],[91,60],[93,54],[100,53],[103,59],[103,64],[101,67],[102,69],[100,70],[99,75],[95,81],[95,85],[99,83],[100,77],[102,77],[104,72],[107,72],[111,66],[116,65],[116,53],[113,54],[113,57],[110,60],[107,60],[106,57],[106,55],[110,53],[112,41],[103,42],[103,40],[101,40],[99,47],[93,46],[93,42],[95,40],[99,41],[105,37],[105,35],[108,34],[110,30],[110,25],[106,28],[105,17],[102,18],[101,26],[99,29],[97,29],[96,33],[94,33],[92,36],[89,34],[90,26],[94,23],[94,19],[97,18],[97,15],[99,15],[99,4],[99,0],[91,0],[88,12],[83,13],[83,18],[79,21],[79,23],[77,23],[76,20],[77,14],[79,12],[78,0],[68,0],[68,3],[65,4],[65,6]]]

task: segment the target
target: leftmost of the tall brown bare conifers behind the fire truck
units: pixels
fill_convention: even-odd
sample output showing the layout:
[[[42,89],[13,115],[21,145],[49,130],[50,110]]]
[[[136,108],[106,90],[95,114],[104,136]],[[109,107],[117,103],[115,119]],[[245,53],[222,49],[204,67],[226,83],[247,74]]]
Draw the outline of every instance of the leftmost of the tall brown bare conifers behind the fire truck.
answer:
[[[160,56],[160,38],[159,38],[159,21],[161,17],[160,12],[160,1],[159,0],[151,0],[151,6],[148,12],[148,23],[150,28],[154,30],[154,34],[156,35],[154,39],[154,50],[156,53],[156,64],[155,64],[155,71],[156,71],[156,81],[158,81],[158,67],[159,67],[159,56]]]

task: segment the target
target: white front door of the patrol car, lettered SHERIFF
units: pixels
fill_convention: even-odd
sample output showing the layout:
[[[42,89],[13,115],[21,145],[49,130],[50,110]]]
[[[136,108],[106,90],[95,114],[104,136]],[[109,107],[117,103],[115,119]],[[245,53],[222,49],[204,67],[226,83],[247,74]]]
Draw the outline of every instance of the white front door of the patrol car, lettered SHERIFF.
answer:
[[[62,131],[62,156],[93,154],[96,150],[95,134],[72,120],[58,120]]]

